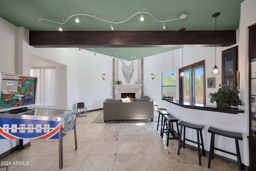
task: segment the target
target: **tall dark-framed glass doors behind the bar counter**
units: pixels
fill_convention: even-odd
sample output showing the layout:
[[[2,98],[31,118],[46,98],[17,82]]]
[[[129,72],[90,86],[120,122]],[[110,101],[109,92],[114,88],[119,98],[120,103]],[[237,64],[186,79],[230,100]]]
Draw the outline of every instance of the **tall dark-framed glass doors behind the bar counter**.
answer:
[[[192,104],[205,104],[204,61],[179,69],[184,71],[180,77],[179,100]]]

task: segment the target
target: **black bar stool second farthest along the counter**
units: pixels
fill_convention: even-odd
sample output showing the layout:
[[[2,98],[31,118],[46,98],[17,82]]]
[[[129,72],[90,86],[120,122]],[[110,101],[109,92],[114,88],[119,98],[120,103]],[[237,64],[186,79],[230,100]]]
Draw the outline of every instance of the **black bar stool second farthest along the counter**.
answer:
[[[171,139],[179,139],[179,136],[180,136],[180,131],[179,131],[179,127],[178,127],[178,119],[175,118],[174,116],[172,115],[164,115],[164,124],[163,124],[163,128],[162,128],[162,138],[164,136],[164,133],[167,135],[167,142],[166,142],[166,146],[168,146],[169,144],[169,140]],[[176,123],[176,126],[177,126],[177,131],[176,132],[174,129],[173,129],[173,122]],[[166,128],[164,128],[164,126],[166,126]],[[172,137],[169,137],[169,135],[172,135]],[[175,134],[178,136],[178,137],[175,137]]]

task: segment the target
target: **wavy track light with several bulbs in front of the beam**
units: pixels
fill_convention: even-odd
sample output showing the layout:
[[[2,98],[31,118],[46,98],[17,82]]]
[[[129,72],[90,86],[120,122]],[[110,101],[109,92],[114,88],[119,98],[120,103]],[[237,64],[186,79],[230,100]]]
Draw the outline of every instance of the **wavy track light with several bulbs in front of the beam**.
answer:
[[[132,16],[130,16],[130,17],[129,17],[128,19],[126,19],[126,20],[123,20],[123,21],[121,21],[121,22],[116,22],[116,20],[114,20],[114,22],[112,22],[112,21],[110,21],[110,20],[104,20],[104,19],[102,19],[102,18],[99,18],[97,14],[96,14],[95,16],[90,15],[90,14],[74,14],[74,13],[71,13],[71,14],[72,14],[72,15],[69,16],[69,17],[67,18],[67,20],[63,20],[62,22],[56,22],[56,21],[53,21],[53,20],[45,19],[45,18],[40,18],[40,19],[38,20],[38,22],[40,22],[41,20],[44,20],[44,21],[48,21],[48,22],[53,22],[53,23],[60,24],[60,28],[61,28],[61,29],[59,28],[59,30],[62,31],[62,26],[61,26],[61,25],[66,24],[66,22],[68,22],[68,20],[69,20],[70,18],[72,18],[72,17],[75,16],[75,17],[76,17],[75,21],[76,21],[77,23],[79,23],[79,22],[80,22],[80,18],[79,18],[78,16],[80,16],[80,17],[81,17],[81,16],[86,16],[86,17],[96,18],[96,19],[101,20],[101,21],[103,21],[103,22],[111,23],[110,28],[111,28],[112,30],[114,30],[112,24],[122,24],[122,23],[128,22],[128,20],[130,20],[131,18],[133,18],[134,16],[139,15],[139,14],[140,14],[140,21],[144,21],[144,16],[143,16],[143,14],[148,14],[148,15],[151,16],[156,22],[163,23],[163,29],[166,29],[165,22],[176,21],[176,20],[184,20],[185,18],[188,17],[188,14],[182,13],[182,14],[180,14],[180,15],[178,15],[178,16],[174,16],[174,17],[173,17],[174,19],[161,21],[161,20],[158,20],[158,18],[155,18],[152,14],[150,14],[150,13],[148,13],[148,12],[145,12],[145,9],[144,9],[144,12],[137,12],[137,13],[133,14]]]

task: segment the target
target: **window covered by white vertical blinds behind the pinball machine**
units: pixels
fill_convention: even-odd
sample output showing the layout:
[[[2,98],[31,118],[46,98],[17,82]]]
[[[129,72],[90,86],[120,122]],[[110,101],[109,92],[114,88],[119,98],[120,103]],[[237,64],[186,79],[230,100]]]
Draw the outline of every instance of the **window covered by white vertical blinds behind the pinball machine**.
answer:
[[[56,68],[31,67],[30,76],[38,77],[35,104],[56,104]]]

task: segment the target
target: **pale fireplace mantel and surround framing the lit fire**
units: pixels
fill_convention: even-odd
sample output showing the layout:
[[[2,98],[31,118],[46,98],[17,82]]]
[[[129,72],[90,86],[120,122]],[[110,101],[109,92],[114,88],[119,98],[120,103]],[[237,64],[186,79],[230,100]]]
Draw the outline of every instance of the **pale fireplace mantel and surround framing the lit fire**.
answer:
[[[141,98],[141,87],[143,85],[113,85],[115,87],[115,97],[121,98],[121,93],[135,92],[135,98]]]

